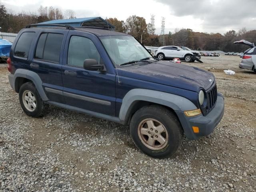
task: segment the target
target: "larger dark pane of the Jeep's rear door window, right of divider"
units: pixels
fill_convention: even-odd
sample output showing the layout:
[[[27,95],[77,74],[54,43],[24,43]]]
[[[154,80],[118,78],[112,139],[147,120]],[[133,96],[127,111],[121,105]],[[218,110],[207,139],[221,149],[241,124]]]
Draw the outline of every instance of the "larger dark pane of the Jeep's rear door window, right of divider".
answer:
[[[43,60],[59,62],[63,36],[62,34],[48,33],[44,46]]]

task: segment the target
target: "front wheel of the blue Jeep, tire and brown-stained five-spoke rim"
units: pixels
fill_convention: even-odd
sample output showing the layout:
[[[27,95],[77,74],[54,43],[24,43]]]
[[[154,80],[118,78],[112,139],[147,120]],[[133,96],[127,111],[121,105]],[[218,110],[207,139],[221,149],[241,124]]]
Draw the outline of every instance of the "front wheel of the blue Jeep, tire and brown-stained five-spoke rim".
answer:
[[[154,158],[174,155],[182,143],[182,127],[178,118],[162,106],[151,105],[140,108],[132,116],[130,134],[134,144],[142,152]],[[150,142],[152,140],[154,142]]]

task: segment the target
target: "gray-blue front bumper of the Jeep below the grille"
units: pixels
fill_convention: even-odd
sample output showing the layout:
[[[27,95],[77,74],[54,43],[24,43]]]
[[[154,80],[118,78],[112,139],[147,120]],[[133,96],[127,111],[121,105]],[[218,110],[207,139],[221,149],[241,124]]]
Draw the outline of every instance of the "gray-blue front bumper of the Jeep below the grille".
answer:
[[[180,119],[184,133],[188,139],[196,140],[213,132],[224,114],[224,97],[218,93],[214,108],[206,116],[198,115],[187,117],[183,111],[175,111]],[[194,133],[192,126],[199,128],[199,133]]]

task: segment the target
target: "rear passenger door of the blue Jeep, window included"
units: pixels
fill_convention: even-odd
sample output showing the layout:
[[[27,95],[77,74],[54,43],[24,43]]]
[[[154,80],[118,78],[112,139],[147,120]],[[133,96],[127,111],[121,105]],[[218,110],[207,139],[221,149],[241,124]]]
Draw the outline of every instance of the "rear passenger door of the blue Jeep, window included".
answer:
[[[36,72],[49,100],[64,103],[62,56],[68,30],[42,28],[38,33],[30,70]]]

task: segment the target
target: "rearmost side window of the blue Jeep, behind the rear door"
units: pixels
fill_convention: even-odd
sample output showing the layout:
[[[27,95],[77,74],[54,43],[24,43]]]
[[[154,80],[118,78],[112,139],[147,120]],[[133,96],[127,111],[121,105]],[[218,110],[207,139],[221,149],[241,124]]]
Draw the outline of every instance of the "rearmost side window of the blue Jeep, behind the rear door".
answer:
[[[35,32],[22,33],[15,46],[14,56],[28,58],[28,52],[34,36]]]

